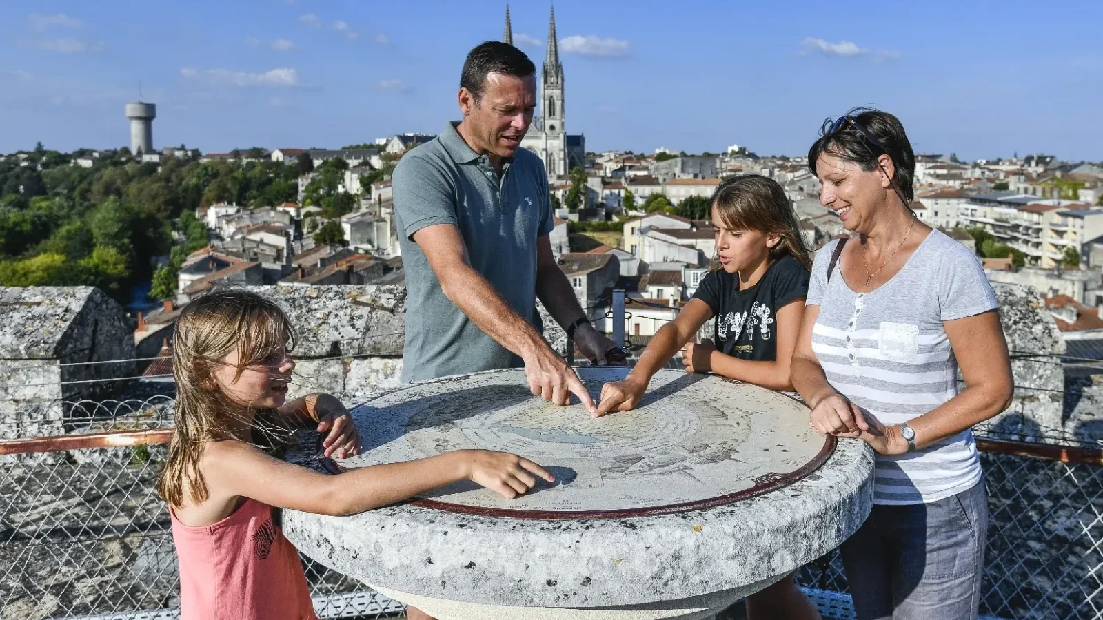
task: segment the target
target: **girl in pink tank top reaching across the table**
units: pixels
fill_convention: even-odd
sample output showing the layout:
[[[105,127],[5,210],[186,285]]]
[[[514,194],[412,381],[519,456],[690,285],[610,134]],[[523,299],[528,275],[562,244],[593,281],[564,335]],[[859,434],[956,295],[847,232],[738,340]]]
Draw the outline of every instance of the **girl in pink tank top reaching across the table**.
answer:
[[[172,514],[183,620],[317,620],[298,552],[275,507],[343,515],[460,480],[506,498],[532,489],[536,477],[554,481],[527,459],[488,450],[338,475],[277,459],[271,446],[304,425],[328,434],[326,457],[360,452],[356,427],[336,398],[287,400],[293,342],[283,311],[240,289],[214,290],[176,319],[176,432],[157,488]]]

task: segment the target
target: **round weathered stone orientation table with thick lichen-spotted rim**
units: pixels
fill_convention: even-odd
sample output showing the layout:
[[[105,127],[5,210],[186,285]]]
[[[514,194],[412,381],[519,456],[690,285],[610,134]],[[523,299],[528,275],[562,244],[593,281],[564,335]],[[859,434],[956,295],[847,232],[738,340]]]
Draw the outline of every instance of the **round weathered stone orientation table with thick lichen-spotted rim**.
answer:
[[[627,368],[579,368],[597,399]],[[753,385],[660,371],[640,407],[592,419],[524,371],[447,377],[353,409],[363,452],[329,471],[463,448],[555,477],[506,500],[471,482],[351,516],[283,511],[306,555],[439,620],[695,620],[781,579],[869,514],[872,452]]]

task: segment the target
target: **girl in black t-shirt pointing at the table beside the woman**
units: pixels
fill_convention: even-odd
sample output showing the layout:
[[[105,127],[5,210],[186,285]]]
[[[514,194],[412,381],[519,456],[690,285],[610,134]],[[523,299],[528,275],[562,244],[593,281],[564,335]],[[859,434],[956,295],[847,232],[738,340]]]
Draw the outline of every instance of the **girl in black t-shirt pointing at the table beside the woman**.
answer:
[[[771,389],[793,389],[790,359],[808,291],[808,252],[777,182],[758,174],[720,183],[709,199],[717,258],[693,299],[663,325],[640,362],[601,389],[599,416],[634,408],[651,377],[679,350],[686,372],[713,372]],[[716,340],[694,343],[714,320]],[[818,619],[792,577],[747,598],[748,618]]]

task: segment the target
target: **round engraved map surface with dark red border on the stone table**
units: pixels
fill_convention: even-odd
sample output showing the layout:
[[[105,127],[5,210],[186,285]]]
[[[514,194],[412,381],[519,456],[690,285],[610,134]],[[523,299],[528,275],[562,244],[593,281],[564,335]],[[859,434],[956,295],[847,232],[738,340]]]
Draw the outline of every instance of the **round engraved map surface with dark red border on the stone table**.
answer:
[[[625,368],[580,368],[595,402]],[[807,408],[753,385],[661,371],[632,411],[591,418],[577,404],[532,395],[522,370],[417,384],[353,410],[364,452],[343,469],[478,448],[544,466],[506,500],[472,482],[420,496],[435,509],[504,516],[622,516],[737,501],[807,475],[834,442],[808,428]],[[601,514],[596,514],[601,513]]]

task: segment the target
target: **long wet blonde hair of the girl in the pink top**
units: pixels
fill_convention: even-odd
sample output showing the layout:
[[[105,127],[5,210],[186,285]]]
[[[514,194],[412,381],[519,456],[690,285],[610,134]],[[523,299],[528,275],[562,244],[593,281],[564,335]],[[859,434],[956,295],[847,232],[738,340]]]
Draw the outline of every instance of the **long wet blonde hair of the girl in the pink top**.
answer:
[[[235,416],[251,414],[257,419],[272,413],[250,411],[248,405],[226,397],[214,383],[213,367],[236,350],[236,381],[246,367],[290,351],[293,344],[295,329],[287,314],[255,292],[215,289],[184,308],[172,336],[176,431],[157,481],[161,499],[173,506],[183,505],[185,493],[195,503],[206,500],[200,459],[207,442],[229,439],[226,421]]]

